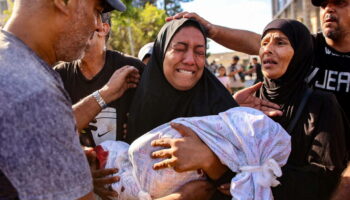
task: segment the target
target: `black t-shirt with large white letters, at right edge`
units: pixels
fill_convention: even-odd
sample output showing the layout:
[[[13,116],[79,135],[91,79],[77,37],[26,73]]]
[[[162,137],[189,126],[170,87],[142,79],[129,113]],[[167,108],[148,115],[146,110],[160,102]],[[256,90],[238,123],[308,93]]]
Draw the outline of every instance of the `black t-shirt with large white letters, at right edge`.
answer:
[[[314,36],[314,45],[308,81],[314,88],[332,92],[350,119],[350,52],[341,53],[328,46],[322,33]]]

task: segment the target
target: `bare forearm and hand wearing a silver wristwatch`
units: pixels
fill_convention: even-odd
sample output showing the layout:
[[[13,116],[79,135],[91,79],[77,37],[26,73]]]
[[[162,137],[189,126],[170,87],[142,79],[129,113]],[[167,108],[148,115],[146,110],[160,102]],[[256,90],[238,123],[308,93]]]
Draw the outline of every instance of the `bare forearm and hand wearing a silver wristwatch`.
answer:
[[[120,98],[129,88],[135,88],[140,75],[138,70],[125,66],[114,72],[108,83],[99,90],[102,99],[108,104]],[[101,107],[92,95],[73,105],[73,112],[79,131],[87,127],[94,117],[101,112]]]

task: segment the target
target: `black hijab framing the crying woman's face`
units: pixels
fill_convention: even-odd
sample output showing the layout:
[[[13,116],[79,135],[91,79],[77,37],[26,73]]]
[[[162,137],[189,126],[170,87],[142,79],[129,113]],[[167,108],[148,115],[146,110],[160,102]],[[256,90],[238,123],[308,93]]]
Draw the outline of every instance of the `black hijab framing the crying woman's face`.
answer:
[[[164,55],[174,35],[184,26],[199,29],[206,38],[202,26],[193,19],[173,20],[162,27],[131,105],[126,139],[129,143],[177,117],[213,115],[238,106],[206,68],[190,90],[177,90],[167,81],[163,73]]]

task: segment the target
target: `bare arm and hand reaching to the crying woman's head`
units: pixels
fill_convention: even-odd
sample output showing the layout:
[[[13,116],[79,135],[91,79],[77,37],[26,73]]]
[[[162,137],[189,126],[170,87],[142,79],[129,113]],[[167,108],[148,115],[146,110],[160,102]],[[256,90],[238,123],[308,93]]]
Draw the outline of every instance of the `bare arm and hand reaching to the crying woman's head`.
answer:
[[[167,21],[183,17],[196,19],[207,29],[209,38],[229,49],[250,55],[259,54],[260,35],[257,33],[214,25],[196,13],[181,12],[172,17],[168,17]]]

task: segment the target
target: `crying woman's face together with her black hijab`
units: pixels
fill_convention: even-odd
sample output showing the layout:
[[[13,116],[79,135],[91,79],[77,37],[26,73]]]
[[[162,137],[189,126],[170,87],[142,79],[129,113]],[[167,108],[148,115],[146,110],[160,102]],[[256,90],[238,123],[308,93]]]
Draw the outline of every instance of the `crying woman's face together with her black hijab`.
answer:
[[[174,36],[185,27],[194,27],[201,34],[187,35],[173,44]],[[195,46],[193,51],[188,50],[194,39],[204,43]],[[213,115],[238,106],[226,88],[204,67],[205,53],[206,36],[197,21],[173,20],[163,26],[131,105],[127,142],[178,117]],[[179,57],[179,62],[172,65]]]

